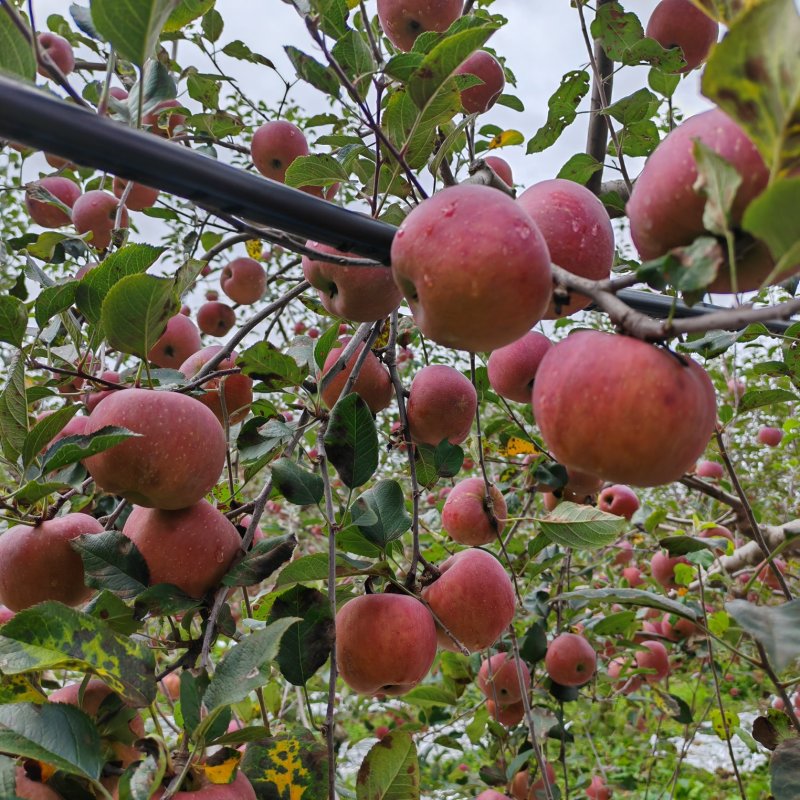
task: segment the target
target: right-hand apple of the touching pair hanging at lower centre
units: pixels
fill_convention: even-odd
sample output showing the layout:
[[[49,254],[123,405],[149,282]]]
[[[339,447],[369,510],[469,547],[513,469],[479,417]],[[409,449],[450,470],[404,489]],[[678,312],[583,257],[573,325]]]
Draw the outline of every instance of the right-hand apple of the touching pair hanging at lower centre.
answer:
[[[439,566],[441,575],[422,598],[468,650],[491,647],[514,618],[514,587],[500,562],[485,550],[462,550]],[[441,629],[439,647],[458,651]]]

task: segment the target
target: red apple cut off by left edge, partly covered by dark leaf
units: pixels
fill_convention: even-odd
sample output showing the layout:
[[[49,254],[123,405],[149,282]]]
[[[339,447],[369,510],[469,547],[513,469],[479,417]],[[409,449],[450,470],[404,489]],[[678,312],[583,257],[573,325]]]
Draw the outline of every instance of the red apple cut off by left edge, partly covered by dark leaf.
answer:
[[[88,514],[66,514],[34,527],[15,525],[0,536],[0,603],[12,611],[57,600],[79,606],[92,595],[83,561],[70,542],[103,526]]]

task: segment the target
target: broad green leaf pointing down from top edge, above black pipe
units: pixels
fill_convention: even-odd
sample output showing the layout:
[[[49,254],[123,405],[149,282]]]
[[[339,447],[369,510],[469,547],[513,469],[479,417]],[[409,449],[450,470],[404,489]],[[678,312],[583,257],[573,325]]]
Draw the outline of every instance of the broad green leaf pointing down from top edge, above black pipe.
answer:
[[[143,67],[179,0],[92,0],[97,32],[128,61]]]

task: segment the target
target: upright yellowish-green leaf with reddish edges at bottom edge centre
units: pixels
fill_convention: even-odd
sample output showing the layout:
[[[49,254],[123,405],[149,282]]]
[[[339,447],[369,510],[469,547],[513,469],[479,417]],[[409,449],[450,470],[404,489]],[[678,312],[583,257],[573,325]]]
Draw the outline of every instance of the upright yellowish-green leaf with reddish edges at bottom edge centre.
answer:
[[[419,761],[411,734],[391,731],[358,769],[356,800],[419,800]]]

